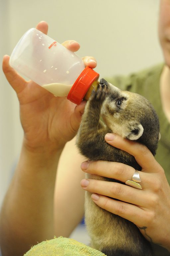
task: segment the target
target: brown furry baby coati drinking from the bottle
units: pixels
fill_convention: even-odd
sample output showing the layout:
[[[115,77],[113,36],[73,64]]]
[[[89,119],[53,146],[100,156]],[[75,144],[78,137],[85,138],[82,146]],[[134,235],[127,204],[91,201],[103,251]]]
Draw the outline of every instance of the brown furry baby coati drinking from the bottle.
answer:
[[[77,146],[89,161],[121,162],[140,171],[132,155],[106,143],[105,134],[111,132],[136,140],[146,145],[153,155],[156,153],[159,120],[152,105],[141,95],[122,91],[101,79],[97,91],[92,91],[86,104]],[[87,178],[116,181],[92,174],[87,174]],[[132,222],[97,206],[87,191],[85,223],[91,246],[108,256],[153,255],[150,243]]]

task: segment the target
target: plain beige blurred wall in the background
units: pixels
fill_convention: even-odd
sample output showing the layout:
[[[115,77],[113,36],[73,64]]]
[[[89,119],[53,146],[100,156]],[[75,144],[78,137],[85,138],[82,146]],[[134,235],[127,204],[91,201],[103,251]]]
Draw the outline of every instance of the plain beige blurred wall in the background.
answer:
[[[102,76],[128,74],[162,61],[157,39],[158,0],[0,0],[0,60],[20,37],[45,20],[58,42],[81,44]],[[17,161],[23,132],[15,92],[0,70],[0,203]]]

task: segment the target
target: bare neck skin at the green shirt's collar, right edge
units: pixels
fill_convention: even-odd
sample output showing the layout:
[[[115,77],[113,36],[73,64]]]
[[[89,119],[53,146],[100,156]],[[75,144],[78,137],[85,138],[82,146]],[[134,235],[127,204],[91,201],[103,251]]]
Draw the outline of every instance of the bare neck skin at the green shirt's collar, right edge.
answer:
[[[170,123],[170,68],[166,65],[160,77],[160,95],[163,111]]]

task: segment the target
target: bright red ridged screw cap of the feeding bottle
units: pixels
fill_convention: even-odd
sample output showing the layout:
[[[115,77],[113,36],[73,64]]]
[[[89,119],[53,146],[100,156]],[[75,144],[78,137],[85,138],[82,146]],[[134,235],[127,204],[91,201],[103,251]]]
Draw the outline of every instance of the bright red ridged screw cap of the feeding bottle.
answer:
[[[86,67],[71,87],[67,99],[79,105],[92,83],[98,80],[98,78],[99,74],[97,72],[92,68]]]

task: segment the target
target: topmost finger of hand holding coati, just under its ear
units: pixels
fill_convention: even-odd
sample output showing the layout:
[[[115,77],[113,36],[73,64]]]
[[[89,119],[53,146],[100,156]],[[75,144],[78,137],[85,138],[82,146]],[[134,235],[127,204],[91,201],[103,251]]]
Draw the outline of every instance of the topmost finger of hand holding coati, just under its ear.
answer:
[[[142,171],[160,171],[160,165],[146,146],[135,141],[122,138],[121,136],[113,133],[106,134],[105,140],[108,144],[122,149],[134,156],[136,162],[142,167]]]

